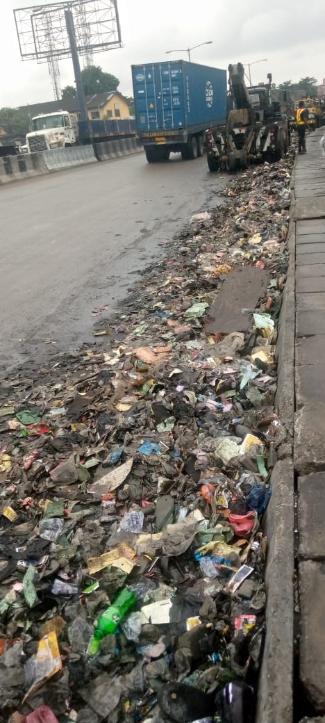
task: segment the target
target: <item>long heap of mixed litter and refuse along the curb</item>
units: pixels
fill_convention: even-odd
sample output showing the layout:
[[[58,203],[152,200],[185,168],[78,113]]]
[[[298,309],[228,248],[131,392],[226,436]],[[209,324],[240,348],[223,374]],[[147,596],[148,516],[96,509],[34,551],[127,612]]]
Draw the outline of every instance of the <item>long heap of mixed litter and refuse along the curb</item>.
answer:
[[[92,348],[1,382],[1,722],[254,721],[291,163],[194,215]]]

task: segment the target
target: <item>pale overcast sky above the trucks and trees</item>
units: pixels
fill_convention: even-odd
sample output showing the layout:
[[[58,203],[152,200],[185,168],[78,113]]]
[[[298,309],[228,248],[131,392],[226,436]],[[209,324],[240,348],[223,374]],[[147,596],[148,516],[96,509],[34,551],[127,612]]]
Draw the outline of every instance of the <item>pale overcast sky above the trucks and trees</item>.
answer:
[[[54,98],[47,65],[20,60],[13,9],[30,5],[1,0],[0,108]],[[325,77],[324,0],[118,0],[118,12],[123,48],[95,54],[94,64],[118,77],[124,95],[133,95],[131,64],[187,59],[186,53],[165,51],[207,40],[212,43],[192,51],[192,61],[218,68],[250,63],[255,84],[266,81],[268,72],[277,85],[307,75],[321,83]],[[61,86],[73,84],[71,60],[59,67]]]

